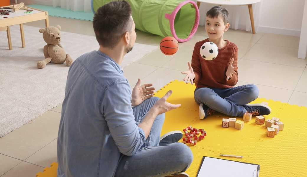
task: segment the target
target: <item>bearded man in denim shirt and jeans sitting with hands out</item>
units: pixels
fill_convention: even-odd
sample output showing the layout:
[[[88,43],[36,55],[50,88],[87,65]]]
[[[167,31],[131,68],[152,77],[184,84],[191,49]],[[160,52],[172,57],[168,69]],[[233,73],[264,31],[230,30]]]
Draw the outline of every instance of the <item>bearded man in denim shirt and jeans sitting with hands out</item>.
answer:
[[[58,177],[188,176],[192,152],[180,131],[160,138],[165,112],[180,104],[152,97],[140,79],[131,92],[119,66],[136,39],[130,5],[114,1],[95,13],[98,51],[69,69],[58,134]]]

